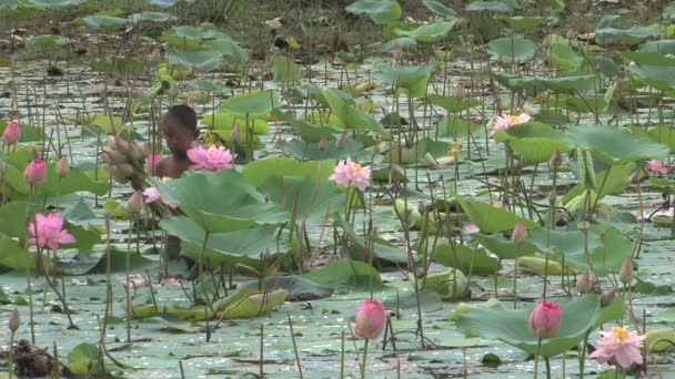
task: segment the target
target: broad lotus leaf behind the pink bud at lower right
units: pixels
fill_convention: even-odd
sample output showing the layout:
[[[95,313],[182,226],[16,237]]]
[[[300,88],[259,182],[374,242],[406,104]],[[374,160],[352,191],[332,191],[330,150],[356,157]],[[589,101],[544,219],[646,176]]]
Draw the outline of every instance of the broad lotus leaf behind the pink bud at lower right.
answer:
[[[553,357],[583,341],[587,331],[595,330],[605,319],[621,318],[623,308],[601,308],[600,295],[555,299],[562,308],[562,322],[554,338],[542,339],[540,355]],[[467,336],[493,338],[534,354],[538,337],[528,328],[528,319],[535,304],[524,304],[521,309],[510,309],[501,303],[472,309],[459,315],[456,325]]]

